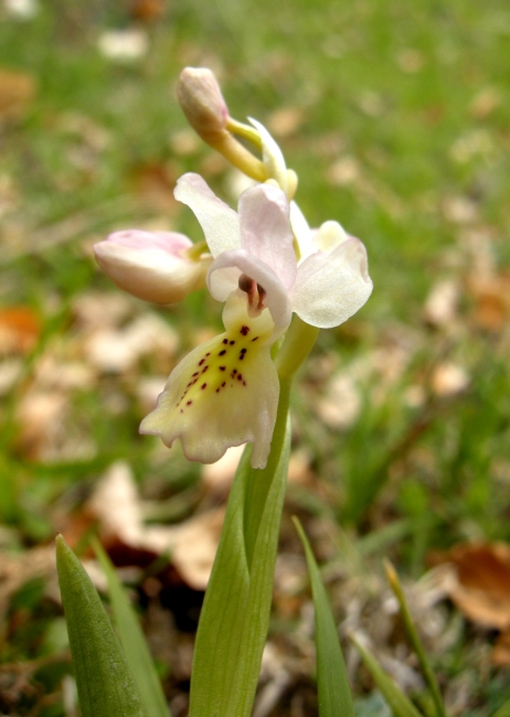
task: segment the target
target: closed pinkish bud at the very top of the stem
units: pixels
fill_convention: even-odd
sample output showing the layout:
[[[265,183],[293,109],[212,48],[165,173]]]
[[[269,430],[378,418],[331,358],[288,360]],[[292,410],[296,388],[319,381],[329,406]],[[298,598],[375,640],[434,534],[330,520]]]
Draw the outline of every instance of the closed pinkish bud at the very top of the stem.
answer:
[[[214,146],[223,139],[229,109],[211,69],[184,67],[177,96],[188,121],[205,142]]]

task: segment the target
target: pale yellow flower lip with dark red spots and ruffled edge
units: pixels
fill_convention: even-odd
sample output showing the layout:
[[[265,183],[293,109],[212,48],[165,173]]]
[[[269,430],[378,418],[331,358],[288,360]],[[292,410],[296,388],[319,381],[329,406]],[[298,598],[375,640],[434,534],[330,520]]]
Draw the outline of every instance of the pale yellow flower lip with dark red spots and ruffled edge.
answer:
[[[278,407],[279,382],[270,358],[273,322],[251,319],[232,296],[226,332],[192,351],[170,374],[140,432],[177,438],[189,460],[212,463],[232,446],[253,443],[252,467],[265,468]]]

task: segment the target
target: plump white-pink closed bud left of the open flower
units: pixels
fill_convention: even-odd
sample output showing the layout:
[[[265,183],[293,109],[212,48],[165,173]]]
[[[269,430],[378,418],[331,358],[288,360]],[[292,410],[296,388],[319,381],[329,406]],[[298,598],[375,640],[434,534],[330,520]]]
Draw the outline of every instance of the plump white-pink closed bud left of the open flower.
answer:
[[[177,303],[205,283],[212,257],[185,256],[193,244],[170,232],[115,232],[94,246],[97,263],[114,283],[138,299]]]

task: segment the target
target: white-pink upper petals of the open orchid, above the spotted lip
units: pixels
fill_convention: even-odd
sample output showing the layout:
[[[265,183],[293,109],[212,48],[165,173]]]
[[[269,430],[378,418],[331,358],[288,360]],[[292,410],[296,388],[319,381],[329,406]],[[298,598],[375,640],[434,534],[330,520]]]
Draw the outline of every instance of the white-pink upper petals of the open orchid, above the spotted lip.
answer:
[[[238,213],[199,174],[181,176],[174,194],[195,214],[214,257],[206,277],[211,295],[225,301],[232,291],[245,291],[251,315],[269,310],[276,338],[286,331],[293,311],[307,323],[329,329],[347,321],[370,297],[363,244],[337,222],[312,232],[272,183],[243,192]]]

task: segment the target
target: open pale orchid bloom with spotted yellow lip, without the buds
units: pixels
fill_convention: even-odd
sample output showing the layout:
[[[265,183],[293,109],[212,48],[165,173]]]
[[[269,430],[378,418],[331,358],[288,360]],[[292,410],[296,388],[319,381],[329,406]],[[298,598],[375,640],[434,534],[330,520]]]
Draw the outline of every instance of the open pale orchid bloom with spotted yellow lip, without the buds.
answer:
[[[366,253],[336,222],[311,232],[272,183],[246,190],[238,212],[198,174],[184,174],[174,194],[195,214],[214,258],[206,283],[213,298],[226,301],[225,333],[183,358],[140,431],[167,446],[180,438],[187,458],[205,463],[252,442],[252,467],[264,468],[279,394],[270,346],[293,311],[325,329],[358,311],[372,291]]]

